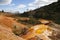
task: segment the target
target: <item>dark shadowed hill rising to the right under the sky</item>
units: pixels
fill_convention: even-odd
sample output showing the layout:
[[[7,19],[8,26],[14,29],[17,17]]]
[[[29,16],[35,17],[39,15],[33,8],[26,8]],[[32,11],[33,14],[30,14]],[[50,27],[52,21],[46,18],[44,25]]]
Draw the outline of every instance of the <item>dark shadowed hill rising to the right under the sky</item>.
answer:
[[[36,10],[24,12],[21,16],[48,19],[60,24],[60,0]]]

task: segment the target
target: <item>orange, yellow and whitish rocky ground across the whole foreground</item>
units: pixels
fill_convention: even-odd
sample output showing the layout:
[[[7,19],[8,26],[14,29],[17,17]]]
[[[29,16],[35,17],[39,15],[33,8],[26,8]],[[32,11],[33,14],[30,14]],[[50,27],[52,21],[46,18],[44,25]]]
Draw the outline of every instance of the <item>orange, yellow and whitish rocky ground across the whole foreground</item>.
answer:
[[[60,25],[48,20],[40,22],[42,23],[28,28],[12,17],[0,16],[0,40],[60,40]],[[52,34],[47,36],[49,32],[46,29]],[[23,31],[21,35],[20,31]]]

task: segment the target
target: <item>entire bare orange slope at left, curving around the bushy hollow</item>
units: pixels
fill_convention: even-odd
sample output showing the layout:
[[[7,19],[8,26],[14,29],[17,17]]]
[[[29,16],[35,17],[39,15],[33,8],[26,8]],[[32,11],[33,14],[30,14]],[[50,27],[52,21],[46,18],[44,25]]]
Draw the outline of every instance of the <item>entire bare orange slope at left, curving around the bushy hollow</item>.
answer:
[[[14,18],[0,15],[0,40],[25,40],[13,33],[15,26],[23,29],[26,25],[17,23]]]

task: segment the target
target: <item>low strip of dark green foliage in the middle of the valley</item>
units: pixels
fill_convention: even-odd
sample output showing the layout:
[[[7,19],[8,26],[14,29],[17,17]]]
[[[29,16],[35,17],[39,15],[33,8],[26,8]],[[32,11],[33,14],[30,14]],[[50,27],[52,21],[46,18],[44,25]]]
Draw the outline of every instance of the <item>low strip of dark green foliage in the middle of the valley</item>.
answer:
[[[17,22],[27,25],[36,25],[40,24],[40,22],[34,18],[30,18],[29,20],[18,20]]]

